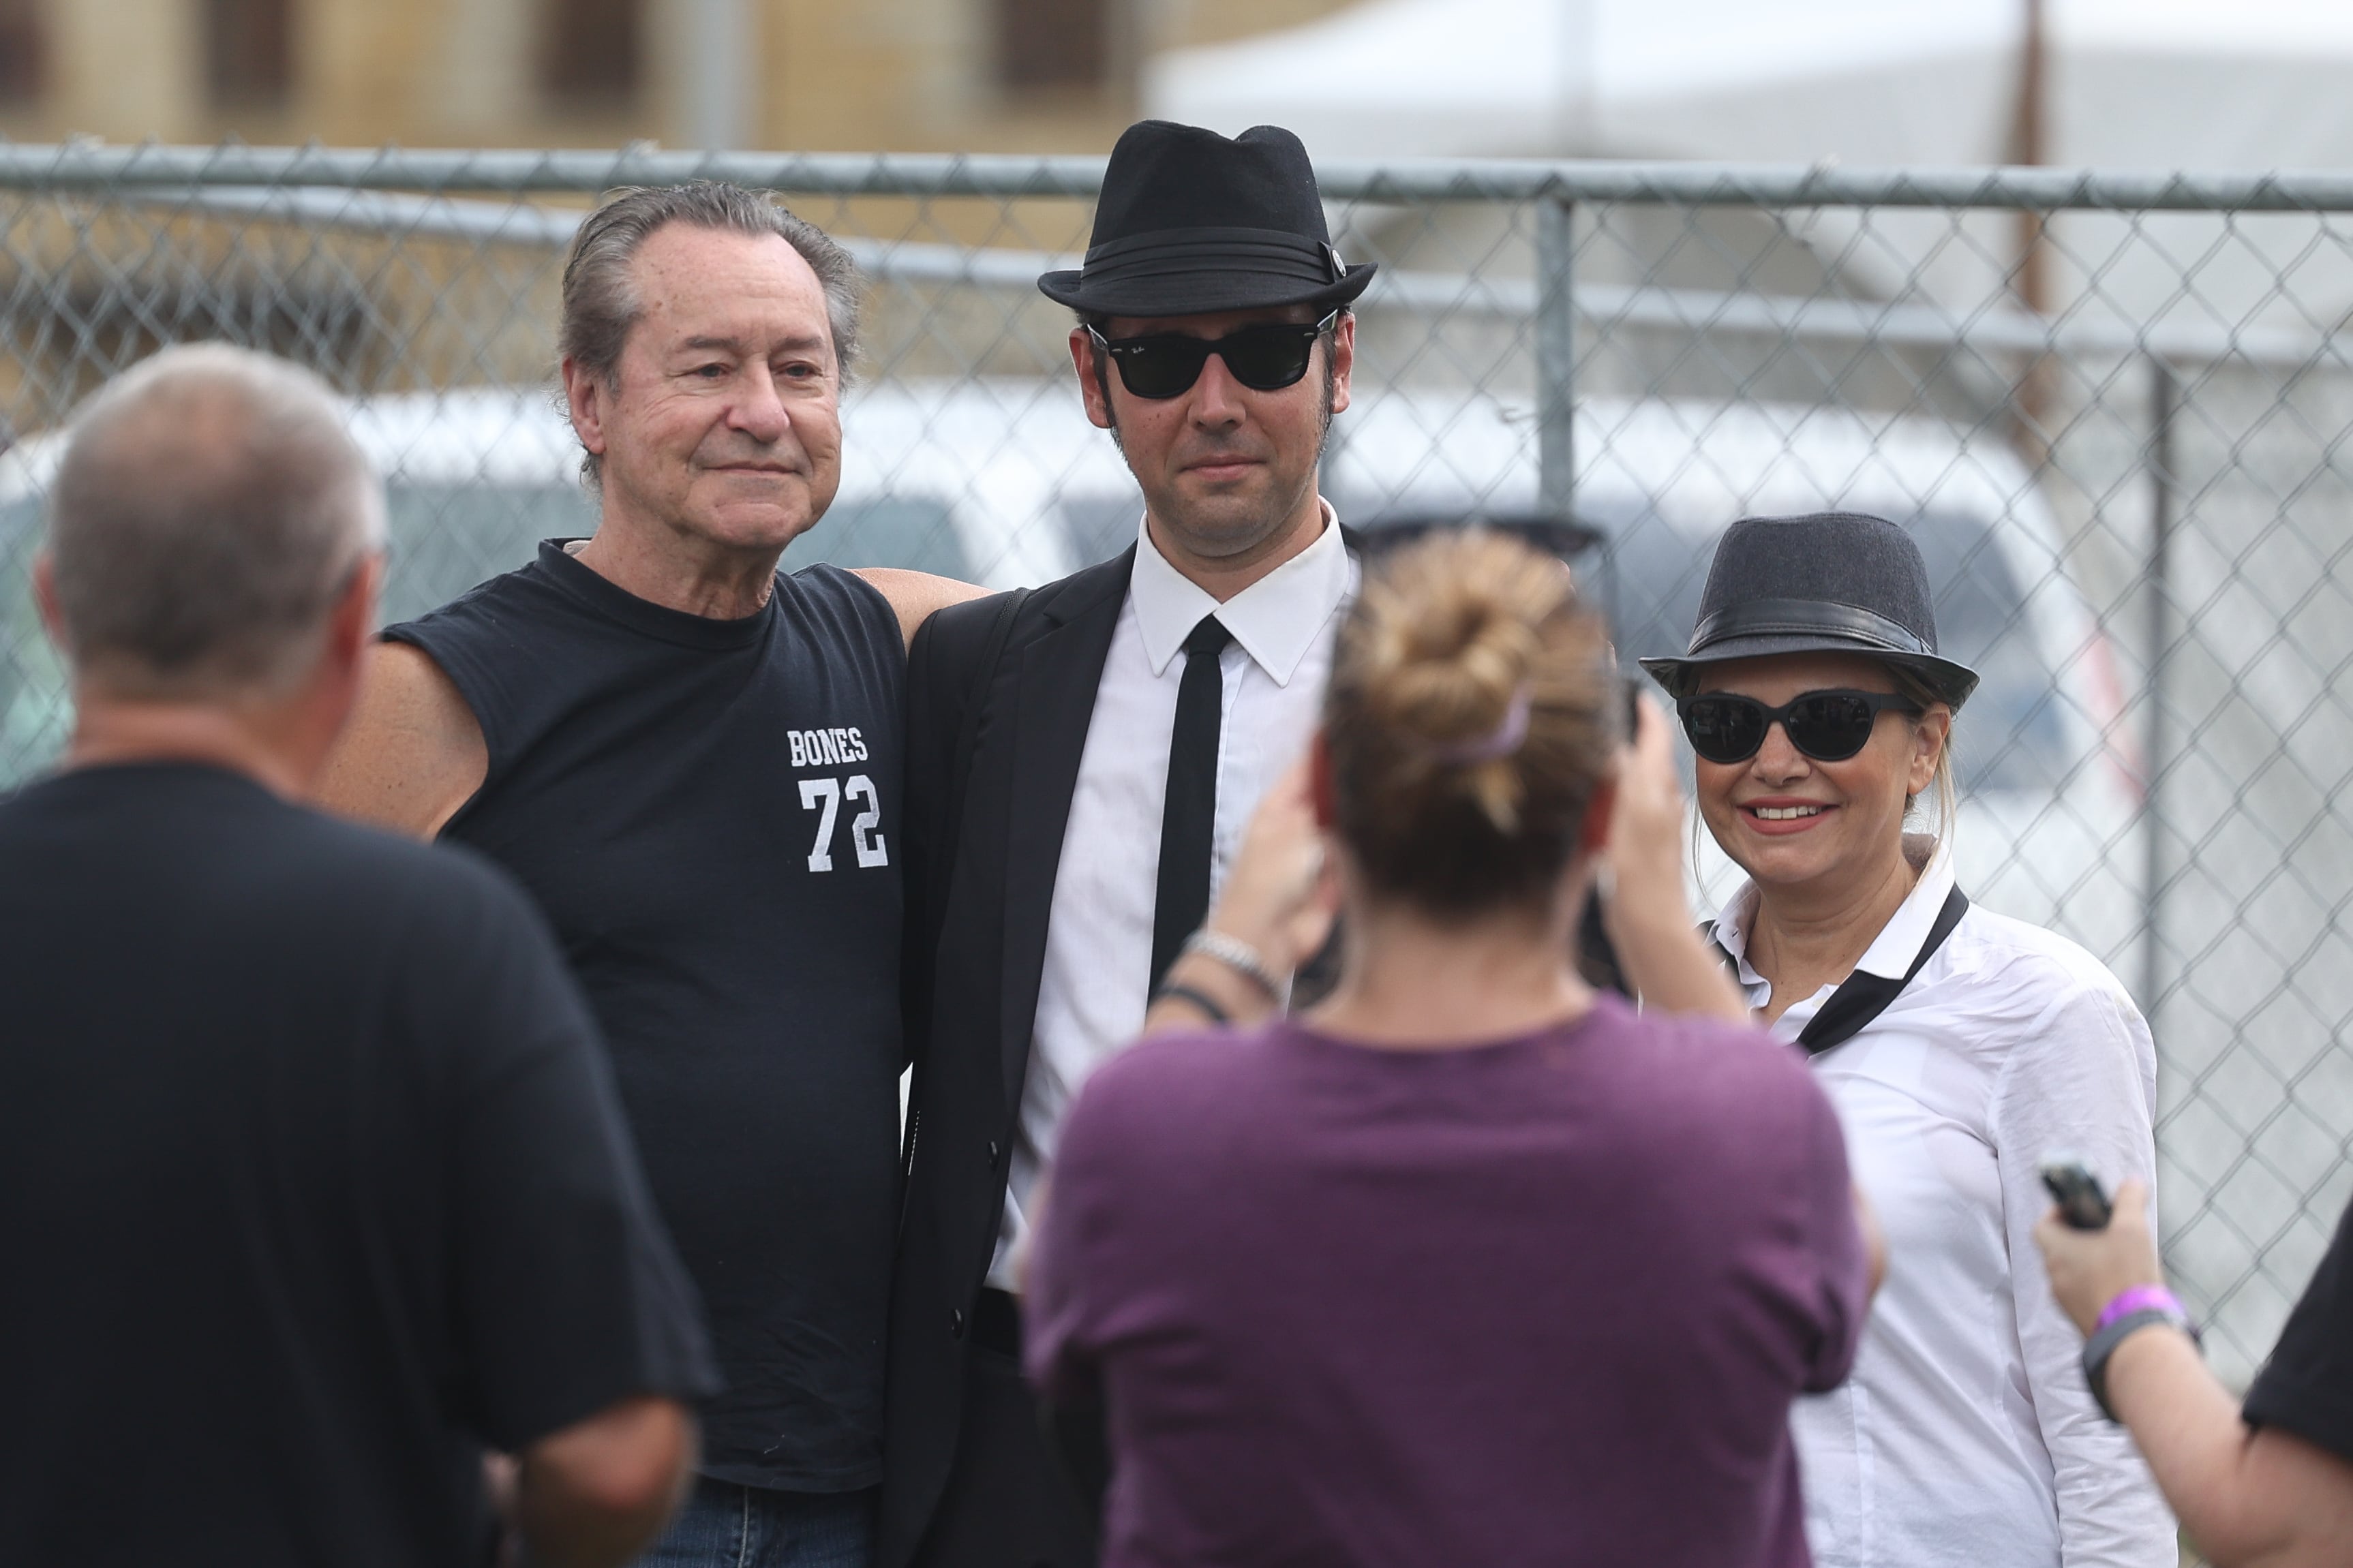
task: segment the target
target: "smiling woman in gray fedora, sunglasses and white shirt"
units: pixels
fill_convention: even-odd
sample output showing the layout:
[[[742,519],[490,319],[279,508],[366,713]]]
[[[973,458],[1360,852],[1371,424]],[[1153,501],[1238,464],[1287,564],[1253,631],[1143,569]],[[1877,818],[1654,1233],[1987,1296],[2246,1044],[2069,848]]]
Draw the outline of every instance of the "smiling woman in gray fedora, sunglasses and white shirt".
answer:
[[[1814,1561],[2174,1563],[2031,1241],[2045,1154],[2151,1178],[2155,1048],[2099,959],[1955,884],[1953,724],[1977,675],[1937,651],[1918,545],[1847,512],[1737,522],[1689,651],[1642,668],[1748,872],[1715,943],[1812,1058],[1887,1232],[1854,1378],[1791,1418]],[[1937,832],[1906,832],[1929,795]]]

